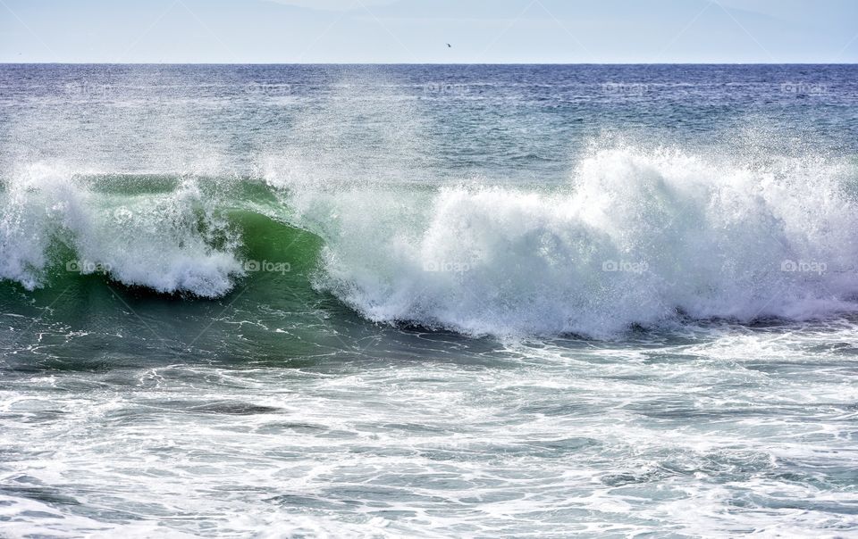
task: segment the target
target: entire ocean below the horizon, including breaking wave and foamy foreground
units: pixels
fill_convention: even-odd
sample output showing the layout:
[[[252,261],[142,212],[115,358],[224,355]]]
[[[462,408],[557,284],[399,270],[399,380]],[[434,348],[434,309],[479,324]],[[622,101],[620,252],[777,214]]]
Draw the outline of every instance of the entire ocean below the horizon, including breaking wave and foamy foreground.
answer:
[[[0,535],[858,533],[858,66],[0,66]]]

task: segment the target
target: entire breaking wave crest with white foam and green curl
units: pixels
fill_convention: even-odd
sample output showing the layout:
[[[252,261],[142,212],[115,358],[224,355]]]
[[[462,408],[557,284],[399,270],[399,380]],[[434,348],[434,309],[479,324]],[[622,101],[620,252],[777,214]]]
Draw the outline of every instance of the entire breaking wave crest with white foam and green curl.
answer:
[[[32,289],[104,272],[216,298],[273,243],[294,243],[272,232],[289,226],[314,239],[281,245],[277,261],[317,270],[279,286],[332,293],[374,322],[610,336],[856,308],[854,162],[614,145],[551,189],[348,187],[266,170],[262,181],[25,167],[0,191],[0,278]]]

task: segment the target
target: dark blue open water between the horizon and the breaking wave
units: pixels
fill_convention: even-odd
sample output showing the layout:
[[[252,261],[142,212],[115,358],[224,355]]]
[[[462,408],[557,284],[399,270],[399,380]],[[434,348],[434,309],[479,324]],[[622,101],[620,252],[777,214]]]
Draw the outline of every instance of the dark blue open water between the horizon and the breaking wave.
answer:
[[[135,153],[161,150],[169,134],[158,130],[171,119],[190,140],[250,167],[258,153],[294,144],[307,111],[345,99],[364,109],[344,105],[338,129],[399,120],[408,124],[403,135],[415,137],[399,148],[356,141],[357,157],[381,162],[380,175],[393,173],[387,161],[407,157],[412,172],[429,178],[538,173],[563,181],[570,153],[606,134],[711,144],[757,128],[771,130],[769,143],[781,149],[800,141],[854,153],[858,129],[854,65],[7,65],[0,87],[4,124],[32,120],[34,109],[63,120],[14,133],[13,146],[23,146],[15,150],[137,157],[128,165],[147,170],[150,156]],[[402,109],[407,118],[391,116]],[[184,145],[180,155],[193,153]]]

